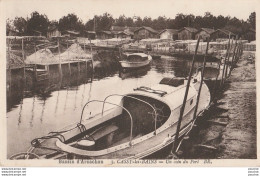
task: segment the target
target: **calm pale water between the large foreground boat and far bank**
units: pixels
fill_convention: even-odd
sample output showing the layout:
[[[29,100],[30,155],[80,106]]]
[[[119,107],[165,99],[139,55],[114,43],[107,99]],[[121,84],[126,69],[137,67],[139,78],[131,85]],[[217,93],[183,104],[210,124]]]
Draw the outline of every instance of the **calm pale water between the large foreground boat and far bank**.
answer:
[[[8,157],[26,151],[32,139],[78,122],[82,107],[89,100],[151,86],[163,77],[187,76],[190,65],[190,61],[167,57],[132,72],[96,72],[94,79],[78,74],[37,83],[31,91],[25,85],[11,92],[7,100]],[[202,63],[196,64],[199,65]]]

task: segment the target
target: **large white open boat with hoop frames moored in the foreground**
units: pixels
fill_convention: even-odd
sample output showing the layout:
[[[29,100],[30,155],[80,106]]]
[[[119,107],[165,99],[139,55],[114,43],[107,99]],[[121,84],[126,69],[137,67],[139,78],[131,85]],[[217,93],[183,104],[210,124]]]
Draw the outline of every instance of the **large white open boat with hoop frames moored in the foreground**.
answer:
[[[180,137],[194,124],[194,109],[199,81],[190,85]],[[91,100],[85,104],[79,123],[58,132],[34,139],[32,147],[22,157],[40,159],[133,159],[149,156],[175,142],[180,109],[187,86],[184,78],[164,78],[158,85],[138,87],[126,95],[109,95],[104,101]],[[202,86],[198,113],[210,102],[207,86]],[[119,103],[110,97],[121,97]],[[86,115],[91,103],[101,103],[100,112]],[[106,105],[112,107],[105,109]]]

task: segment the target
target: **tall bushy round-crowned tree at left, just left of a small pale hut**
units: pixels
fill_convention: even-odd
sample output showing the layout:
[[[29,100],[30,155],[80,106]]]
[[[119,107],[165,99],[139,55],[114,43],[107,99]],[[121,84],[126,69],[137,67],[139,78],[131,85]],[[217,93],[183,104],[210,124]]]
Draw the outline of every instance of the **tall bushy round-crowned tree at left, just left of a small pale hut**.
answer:
[[[42,32],[43,35],[46,35],[49,25],[49,19],[46,15],[41,15],[38,12],[31,13],[31,18],[27,23],[27,33],[33,35],[35,31]]]

